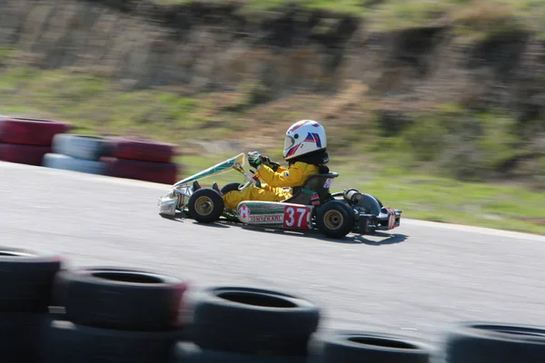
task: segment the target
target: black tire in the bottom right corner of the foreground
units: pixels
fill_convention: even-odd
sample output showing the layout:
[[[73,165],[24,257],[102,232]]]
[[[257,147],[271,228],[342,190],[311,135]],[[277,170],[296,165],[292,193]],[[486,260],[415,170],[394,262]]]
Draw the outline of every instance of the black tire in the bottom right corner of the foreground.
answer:
[[[462,322],[448,330],[446,362],[538,363],[545,359],[545,329],[526,325]]]

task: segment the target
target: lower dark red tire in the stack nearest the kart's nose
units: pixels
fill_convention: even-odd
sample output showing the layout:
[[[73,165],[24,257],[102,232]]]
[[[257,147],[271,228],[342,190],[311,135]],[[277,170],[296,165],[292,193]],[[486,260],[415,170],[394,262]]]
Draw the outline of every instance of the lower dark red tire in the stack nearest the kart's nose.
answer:
[[[136,160],[104,157],[108,164],[107,175],[144,182],[173,184],[178,175],[178,166],[173,162],[140,162]]]

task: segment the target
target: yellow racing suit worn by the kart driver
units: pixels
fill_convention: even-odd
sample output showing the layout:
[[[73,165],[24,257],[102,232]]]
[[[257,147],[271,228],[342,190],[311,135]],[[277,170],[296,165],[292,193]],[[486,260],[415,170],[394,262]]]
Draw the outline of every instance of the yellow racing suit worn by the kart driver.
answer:
[[[285,201],[292,197],[292,191],[283,188],[300,187],[312,174],[318,174],[320,168],[306,162],[295,162],[289,168],[278,167],[274,172],[267,165],[257,167],[262,187],[248,187],[243,191],[229,191],[223,195],[225,208],[235,210],[241,201]]]

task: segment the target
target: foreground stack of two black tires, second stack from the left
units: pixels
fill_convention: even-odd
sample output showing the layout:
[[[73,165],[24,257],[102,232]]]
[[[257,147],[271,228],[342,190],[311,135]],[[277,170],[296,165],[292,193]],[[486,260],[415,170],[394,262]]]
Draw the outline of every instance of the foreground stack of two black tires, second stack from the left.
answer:
[[[166,363],[183,340],[185,281],[123,268],[63,270],[54,296],[64,319],[44,330],[41,362]]]

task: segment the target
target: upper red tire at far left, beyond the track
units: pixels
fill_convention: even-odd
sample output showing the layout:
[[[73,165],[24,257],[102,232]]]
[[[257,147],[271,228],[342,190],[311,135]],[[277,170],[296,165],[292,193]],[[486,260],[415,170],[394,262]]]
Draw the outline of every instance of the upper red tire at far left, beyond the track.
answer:
[[[54,135],[69,128],[69,123],[51,120],[0,117],[0,142],[51,146]]]

